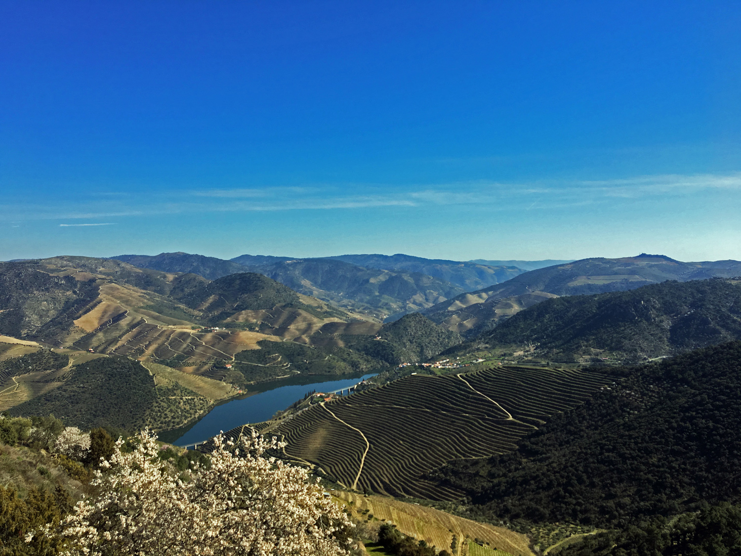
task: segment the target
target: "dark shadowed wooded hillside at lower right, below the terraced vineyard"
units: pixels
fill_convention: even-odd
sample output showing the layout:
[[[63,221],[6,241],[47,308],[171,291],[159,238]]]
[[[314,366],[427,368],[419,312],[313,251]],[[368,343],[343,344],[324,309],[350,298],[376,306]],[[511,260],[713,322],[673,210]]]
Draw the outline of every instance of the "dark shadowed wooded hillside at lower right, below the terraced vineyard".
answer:
[[[523,439],[434,477],[471,512],[628,529],[741,502],[741,342],[619,371],[610,388]],[[666,525],[666,523],[664,523]]]

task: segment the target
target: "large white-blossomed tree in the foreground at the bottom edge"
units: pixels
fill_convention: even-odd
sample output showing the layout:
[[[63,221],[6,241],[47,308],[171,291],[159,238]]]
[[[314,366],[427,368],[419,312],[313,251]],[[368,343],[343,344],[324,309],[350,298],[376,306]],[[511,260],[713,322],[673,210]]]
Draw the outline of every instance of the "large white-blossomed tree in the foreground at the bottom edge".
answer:
[[[210,468],[184,481],[156,455],[156,436],[139,434],[133,452],[103,462],[83,500],[62,524],[67,555],[334,556],[351,524],[305,469],[265,451],[282,446],[253,432],[216,437]]]

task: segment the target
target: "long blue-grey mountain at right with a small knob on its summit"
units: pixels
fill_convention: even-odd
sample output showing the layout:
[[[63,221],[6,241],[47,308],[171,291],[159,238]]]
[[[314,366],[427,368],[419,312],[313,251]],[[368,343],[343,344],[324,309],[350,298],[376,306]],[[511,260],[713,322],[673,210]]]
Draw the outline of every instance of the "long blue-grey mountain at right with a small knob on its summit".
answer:
[[[680,262],[664,255],[647,254],[622,259],[582,259],[525,272],[502,284],[453,297],[422,313],[470,338],[551,297],[627,291],[665,280],[687,282],[740,274],[741,262],[732,260]]]

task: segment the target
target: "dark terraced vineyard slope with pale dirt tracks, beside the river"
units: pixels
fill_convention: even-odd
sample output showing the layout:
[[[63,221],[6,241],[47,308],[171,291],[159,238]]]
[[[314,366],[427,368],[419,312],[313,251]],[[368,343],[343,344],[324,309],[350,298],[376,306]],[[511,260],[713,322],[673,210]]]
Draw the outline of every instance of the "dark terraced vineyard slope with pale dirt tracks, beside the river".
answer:
[[[610,382],[589,371],[525,367],[413,375],[322,403],[268,431],[285,437],[289,457],[349,488],[453,500],[459,493],[427,480],[428,471],[511,451],[550,415]]]

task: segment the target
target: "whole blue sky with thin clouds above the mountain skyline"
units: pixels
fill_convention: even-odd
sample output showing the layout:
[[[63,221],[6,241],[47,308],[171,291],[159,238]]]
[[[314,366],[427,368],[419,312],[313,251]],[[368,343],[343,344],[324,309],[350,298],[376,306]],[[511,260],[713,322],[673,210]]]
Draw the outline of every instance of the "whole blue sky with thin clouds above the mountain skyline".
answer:
[[[0,1],[0,259],[741,259],[741,4]]]

